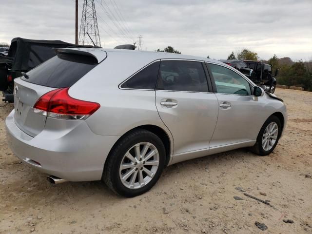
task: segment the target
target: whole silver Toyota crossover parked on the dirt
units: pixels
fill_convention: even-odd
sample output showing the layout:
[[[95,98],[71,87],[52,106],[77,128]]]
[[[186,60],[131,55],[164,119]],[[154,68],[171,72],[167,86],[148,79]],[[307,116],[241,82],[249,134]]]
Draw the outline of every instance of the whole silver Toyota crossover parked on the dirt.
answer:
[[[179,54],[57,49],[15,79],[12,151],[53,183],[103,180],[136,196],[165,166],[250,147],[270,154],[286,107],[225,63]]]

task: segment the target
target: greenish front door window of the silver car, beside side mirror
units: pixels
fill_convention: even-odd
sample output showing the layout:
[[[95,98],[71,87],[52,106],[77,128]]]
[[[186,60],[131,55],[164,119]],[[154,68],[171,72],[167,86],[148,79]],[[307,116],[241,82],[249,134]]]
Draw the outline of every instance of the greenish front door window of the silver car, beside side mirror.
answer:
[[[217,93],[251,95],[249,82],[236,72],[215,64],[209,64],[215,79]]]

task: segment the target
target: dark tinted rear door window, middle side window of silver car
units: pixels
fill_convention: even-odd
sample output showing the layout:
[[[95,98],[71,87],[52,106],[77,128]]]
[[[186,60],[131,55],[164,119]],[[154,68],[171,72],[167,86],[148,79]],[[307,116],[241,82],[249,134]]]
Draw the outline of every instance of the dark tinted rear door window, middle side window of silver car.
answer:
[[[161,61],[157,89],[189,92],[208,92],[201,62]]]

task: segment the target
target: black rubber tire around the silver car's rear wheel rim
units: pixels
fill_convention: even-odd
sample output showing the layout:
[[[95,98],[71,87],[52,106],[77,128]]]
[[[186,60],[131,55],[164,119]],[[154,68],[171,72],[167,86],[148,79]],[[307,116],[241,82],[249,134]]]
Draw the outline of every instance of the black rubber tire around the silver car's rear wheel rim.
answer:
[[[119,176],[119,166],[122,163],[123,156],[127,153],[127,151],[139,142],[150,142],[156,147],[159,153],[159,164],[156,174],[153,176],[151,181],[141,188],[130,189],[121,182]],[[111,150],[104,165],[102,180],[118,195],[126,197],[141,195],[150,190],[156,184],[164,169],[165,157],[166,151],[164,144],[157,135],[144,129],[131,131],[121,137]]]

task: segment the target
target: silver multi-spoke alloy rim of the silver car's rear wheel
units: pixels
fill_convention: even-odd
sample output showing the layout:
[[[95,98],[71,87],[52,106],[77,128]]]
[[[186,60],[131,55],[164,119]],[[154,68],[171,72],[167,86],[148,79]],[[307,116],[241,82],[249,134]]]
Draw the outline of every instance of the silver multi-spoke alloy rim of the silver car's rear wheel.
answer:
[[[132,146],[123,156],[119,166],[121,183],[129,189],[139,189],[155,176],[159,166],[159,153],[150,142]]]

